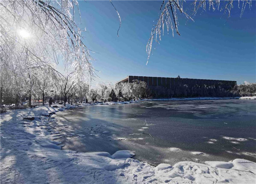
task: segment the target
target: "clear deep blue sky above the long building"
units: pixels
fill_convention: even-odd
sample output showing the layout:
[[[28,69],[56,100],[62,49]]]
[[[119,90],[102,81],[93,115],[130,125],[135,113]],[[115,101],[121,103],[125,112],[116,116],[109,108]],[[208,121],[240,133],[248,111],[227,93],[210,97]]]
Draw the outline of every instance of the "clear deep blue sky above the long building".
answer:
[[[181,15],[181,36],[165,34],[146,65],[146,44],[161,3],[113,1],[122,18],[117,37],[119,19],[109,1],[79,1],[84,43],[96,52],[93,66],[100,71],[96,82],[115,83],[127,75],[256,82],[255,2],[241,18],[237,2],[228,20],[219,11],[199,11],[195,22]]]

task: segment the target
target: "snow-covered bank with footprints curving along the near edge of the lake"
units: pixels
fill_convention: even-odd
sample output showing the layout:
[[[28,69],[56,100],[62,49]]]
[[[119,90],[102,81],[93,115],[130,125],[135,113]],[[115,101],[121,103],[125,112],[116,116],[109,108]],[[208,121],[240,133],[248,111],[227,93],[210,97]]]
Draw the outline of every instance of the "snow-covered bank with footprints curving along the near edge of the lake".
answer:
[[[256,181],[256,163],[243,159],[207,161],[205,164],[183,161],[173,166],[159,164],[154,167],[134,160],[131,158],[134,153],[128,150],[120,150],[113,155],[108,152],[61,150],[63,145],[55,141],[61,134],[49,126],[55,121],[50,115],[75,106],[58,106],[16,109],[1,114],[1,183],[254,184]],[[35,119],[23,120],[26,117]]]

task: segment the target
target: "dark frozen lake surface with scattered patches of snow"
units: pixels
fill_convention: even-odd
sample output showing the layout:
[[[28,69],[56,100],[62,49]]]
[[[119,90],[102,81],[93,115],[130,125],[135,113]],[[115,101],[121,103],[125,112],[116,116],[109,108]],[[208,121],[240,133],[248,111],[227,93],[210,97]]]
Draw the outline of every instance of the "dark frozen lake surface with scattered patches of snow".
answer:
[[[254,100],[144,101],[87,106],[52,117],[56,129],[80,135],[59,139],[63,149],[131,150],[135,159],[151,164],[235,158],[256,162]]]

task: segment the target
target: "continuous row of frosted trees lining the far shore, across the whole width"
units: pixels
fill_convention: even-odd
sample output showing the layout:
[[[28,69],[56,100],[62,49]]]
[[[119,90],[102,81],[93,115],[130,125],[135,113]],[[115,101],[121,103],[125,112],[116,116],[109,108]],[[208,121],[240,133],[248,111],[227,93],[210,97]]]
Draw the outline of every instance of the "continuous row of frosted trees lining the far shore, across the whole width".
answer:
[[[4,103],[15,103],[25,100],[34,99],[41,101],[44,104],[50,97],[54,101],[64,101],[71,105],[73,102],[80,103],[82,101],[130,101],[140,98],[171,98],[171,97],[236,97],[242,95],[253,95],[256,93],[256,83],[243,84],[239,86],[224,85],[218,83],[213,86],[189,86],[180,85],[174,89],[167,89],[164,86],[147,86],[140,80],[133,80],[132,83],[119,83],[113,85],[111,83],[98,83],[95,88],[90,89],[87,83],[75,83],[70,80],[69,76],[65,80],[60,80],[52,74],[55,80],[51,77],[44,80],[32,81],[32,95],[29,93],[18,93],[12,90],[12,85],[1,88],[1,101]],[[6,80],[4,80],[6,81]],[[58,83],[56,83],[56,81]]]

